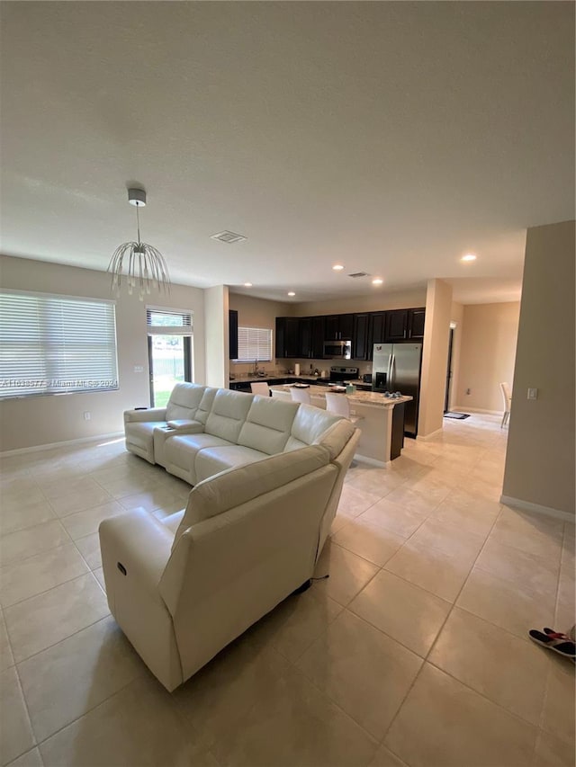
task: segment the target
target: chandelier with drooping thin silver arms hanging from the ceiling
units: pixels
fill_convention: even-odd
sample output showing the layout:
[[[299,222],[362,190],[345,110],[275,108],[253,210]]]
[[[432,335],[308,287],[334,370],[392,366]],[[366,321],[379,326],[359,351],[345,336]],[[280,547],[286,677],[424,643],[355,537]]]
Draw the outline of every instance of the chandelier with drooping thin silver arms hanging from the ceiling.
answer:
[[[125,276],[129,294],[138,289],[141,301],[145,294],[151,293],[152,287],[169,292],[170,278],[163,255],[153,245],[140,241],[139,208],[146,205],[146,192],[143,189],[129,189],[128,201],[136,207],[138,241],[118,245],[110,259],[108,272],[112,272],[112,291],[117,296],[120,296],[122,278]]]

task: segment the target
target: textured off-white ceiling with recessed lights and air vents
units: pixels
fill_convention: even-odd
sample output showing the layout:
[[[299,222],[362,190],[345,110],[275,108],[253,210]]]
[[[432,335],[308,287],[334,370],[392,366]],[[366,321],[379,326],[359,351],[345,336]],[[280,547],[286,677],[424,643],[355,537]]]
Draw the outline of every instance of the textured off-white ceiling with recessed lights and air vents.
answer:
[[[137,182],[173,281],[310,301],[440,277],[510,300],[526,228],[573,218],[572,3],[1,13],[4,254],[105,270]]]

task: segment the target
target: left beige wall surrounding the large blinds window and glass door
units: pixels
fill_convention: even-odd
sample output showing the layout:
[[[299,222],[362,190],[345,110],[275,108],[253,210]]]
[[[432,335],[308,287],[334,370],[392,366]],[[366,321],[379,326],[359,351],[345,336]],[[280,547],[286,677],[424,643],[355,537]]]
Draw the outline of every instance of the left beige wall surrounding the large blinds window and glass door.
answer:
[[[59,263],[0,255],[0,285],[89,299],[113,299],[110,275]],[[66,395],[36,395],[0,400],[0,450],[23,450],[39,445],[123,432],[123,412],[150,405],[146,309],[191,311],[193,315],[194,379],[204,379],[204,291],[173,284],[169,294],[152,294],[144,301],[122,292],[116,299],[116,338],[119,388],[113,391]],[[136,369],[141,369],[137,372]],[[91,418],[85,421],[84,413]]]

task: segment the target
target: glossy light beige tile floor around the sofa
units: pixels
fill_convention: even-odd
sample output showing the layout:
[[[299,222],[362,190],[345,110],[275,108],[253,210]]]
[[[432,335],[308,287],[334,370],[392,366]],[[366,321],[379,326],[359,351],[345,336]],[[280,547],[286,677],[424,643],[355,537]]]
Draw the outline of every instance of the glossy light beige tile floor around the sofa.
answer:
[[[97,529],[188,486],[122,441],[2,460],[0,762],[568,767],[574,527],[499,503],[498,418],[358,463],[317,575],[173,694],[116,627]]]

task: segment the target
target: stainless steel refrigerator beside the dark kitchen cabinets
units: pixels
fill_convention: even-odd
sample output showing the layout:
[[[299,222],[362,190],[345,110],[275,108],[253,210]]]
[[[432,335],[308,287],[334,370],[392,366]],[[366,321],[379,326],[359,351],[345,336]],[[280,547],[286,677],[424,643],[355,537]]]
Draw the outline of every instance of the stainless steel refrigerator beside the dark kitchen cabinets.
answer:
[[[374,343],[372,390],[413,397],[404,411],[404,432],[410,437],[418,431],[421,364],[421,343]]]

